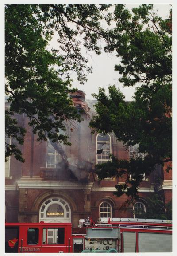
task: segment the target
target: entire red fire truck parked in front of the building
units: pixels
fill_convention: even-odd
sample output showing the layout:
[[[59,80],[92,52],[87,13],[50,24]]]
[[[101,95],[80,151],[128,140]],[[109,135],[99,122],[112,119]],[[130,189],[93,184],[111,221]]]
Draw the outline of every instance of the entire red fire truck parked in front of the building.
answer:
[[[127,218],[5,223],[5,252],[172,252],[172,221]]]

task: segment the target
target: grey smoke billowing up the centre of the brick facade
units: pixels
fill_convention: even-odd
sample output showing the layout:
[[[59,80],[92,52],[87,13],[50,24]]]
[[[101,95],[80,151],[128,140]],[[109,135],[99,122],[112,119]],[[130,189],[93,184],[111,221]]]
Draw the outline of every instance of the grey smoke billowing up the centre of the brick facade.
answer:
[[[90,118],[94,111],[93,103],[95,101],[88,102],[81,101],[80,98],[77,98],[77,103],[81,103],[83,121],[78,123],[76,121],[69,122],[67,124],[68,134],[70,133],[70,142],[71,146],[63,148],[60,142],[54,142],[54,149],[62,157],[62,169],[64,171],[70,171],[70,177],[78,181],[88,182],[89,173],[93,173],[96,163],[96,146],[95,140],[92,141],[91,130],[89,128]],[[70,131],[70,132],[69,132]]]

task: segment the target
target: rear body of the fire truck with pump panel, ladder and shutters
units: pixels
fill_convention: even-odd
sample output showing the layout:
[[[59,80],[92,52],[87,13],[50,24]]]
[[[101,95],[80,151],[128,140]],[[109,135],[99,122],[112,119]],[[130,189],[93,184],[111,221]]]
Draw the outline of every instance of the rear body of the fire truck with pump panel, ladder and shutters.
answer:
[[[172,252],[172,221],[100,218],[88,227],[85,249],[118,252]]]

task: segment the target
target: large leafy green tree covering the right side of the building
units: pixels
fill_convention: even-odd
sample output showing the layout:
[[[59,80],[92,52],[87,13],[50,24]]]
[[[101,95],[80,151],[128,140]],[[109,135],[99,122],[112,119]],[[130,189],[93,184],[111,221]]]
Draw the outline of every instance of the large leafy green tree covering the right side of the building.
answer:
[[[132,9],[116,5],[116,27],[108,32],[105,51],[116,51],[121,63],[115,66],[123,86],[135,86],[132,102],[125,102],[115,86],[109,95],[99,90],[95,105],[97,114],[90,122],[93,132],[113,132],[128,146],[139,145],[143,157],[112,161],[97,165],[99,178],[126,177],[125,184],[116,185],[115,194],[125,193],[138,198],[138,187],[143,173],[149,175],[156,164],[172,161],[172,12],[163,20],[153,12],[152,4]],[[130,179],[133,175],[133,179]]]

